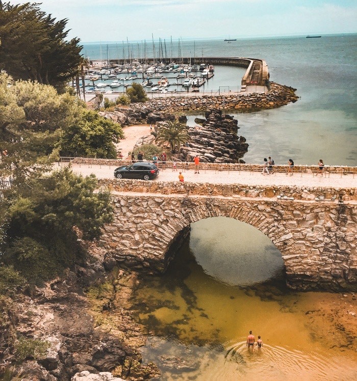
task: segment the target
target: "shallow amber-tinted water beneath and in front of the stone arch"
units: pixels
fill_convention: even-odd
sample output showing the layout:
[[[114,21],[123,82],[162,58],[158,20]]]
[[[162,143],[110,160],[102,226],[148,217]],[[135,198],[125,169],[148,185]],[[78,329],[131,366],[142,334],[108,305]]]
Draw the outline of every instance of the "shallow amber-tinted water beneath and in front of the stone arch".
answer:
[[[257,229],[199,221],[166,274],[134,292],[150,333],[143,362],[157,364],[163,380],[356,379],[356,352],[331,339],[335,325],[321,309],[331,297],[289,290],[281,254]],[[261,352],[247,350],[250,330],[261,335]]]

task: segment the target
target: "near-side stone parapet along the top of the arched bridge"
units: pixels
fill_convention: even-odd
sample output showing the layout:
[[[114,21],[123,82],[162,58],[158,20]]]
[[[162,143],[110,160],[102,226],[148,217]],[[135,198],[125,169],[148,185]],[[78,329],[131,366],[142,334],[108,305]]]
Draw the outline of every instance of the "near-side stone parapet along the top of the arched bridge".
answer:
[[[161,195],[224,196],[247,198],[276,198],[278,200],[305,200],[341,202],[357,200],[356,188],[209,184],[179,181],[144,181],[98,179],[99,188],[115,192],[134,192]]]

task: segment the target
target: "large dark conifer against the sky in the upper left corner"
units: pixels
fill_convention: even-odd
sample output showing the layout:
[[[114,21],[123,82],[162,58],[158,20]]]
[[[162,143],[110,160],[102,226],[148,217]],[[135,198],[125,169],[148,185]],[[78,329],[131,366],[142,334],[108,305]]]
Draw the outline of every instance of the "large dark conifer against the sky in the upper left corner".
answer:
[[[15,79],[29,79],[64,90],[81,64],[80,40],[66,40],[67,19],[56,21],[39,4],[0,2],[0,68]]]

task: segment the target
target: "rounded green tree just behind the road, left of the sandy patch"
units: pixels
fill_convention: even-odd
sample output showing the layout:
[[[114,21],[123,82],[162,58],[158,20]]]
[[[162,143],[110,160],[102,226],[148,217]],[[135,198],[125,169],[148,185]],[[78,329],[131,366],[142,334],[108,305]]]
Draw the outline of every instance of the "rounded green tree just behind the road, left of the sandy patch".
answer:
[[[98,113],[83,110],[81,119],[63,128],[59,142],[62,156],[116,158],[114,143],[123,138],[119,124]]]

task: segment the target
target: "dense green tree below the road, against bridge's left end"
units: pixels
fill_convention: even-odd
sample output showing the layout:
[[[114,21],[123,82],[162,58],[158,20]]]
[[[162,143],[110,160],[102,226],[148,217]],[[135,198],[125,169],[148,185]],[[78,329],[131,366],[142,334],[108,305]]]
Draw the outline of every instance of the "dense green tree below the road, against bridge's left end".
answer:
[[[2,260],[30,282],[60,274],[83,255],[78,241],[97,239],[112,219],[110,195],[95,192],[94,175],[64,168],[32,179],[9,194]]]

